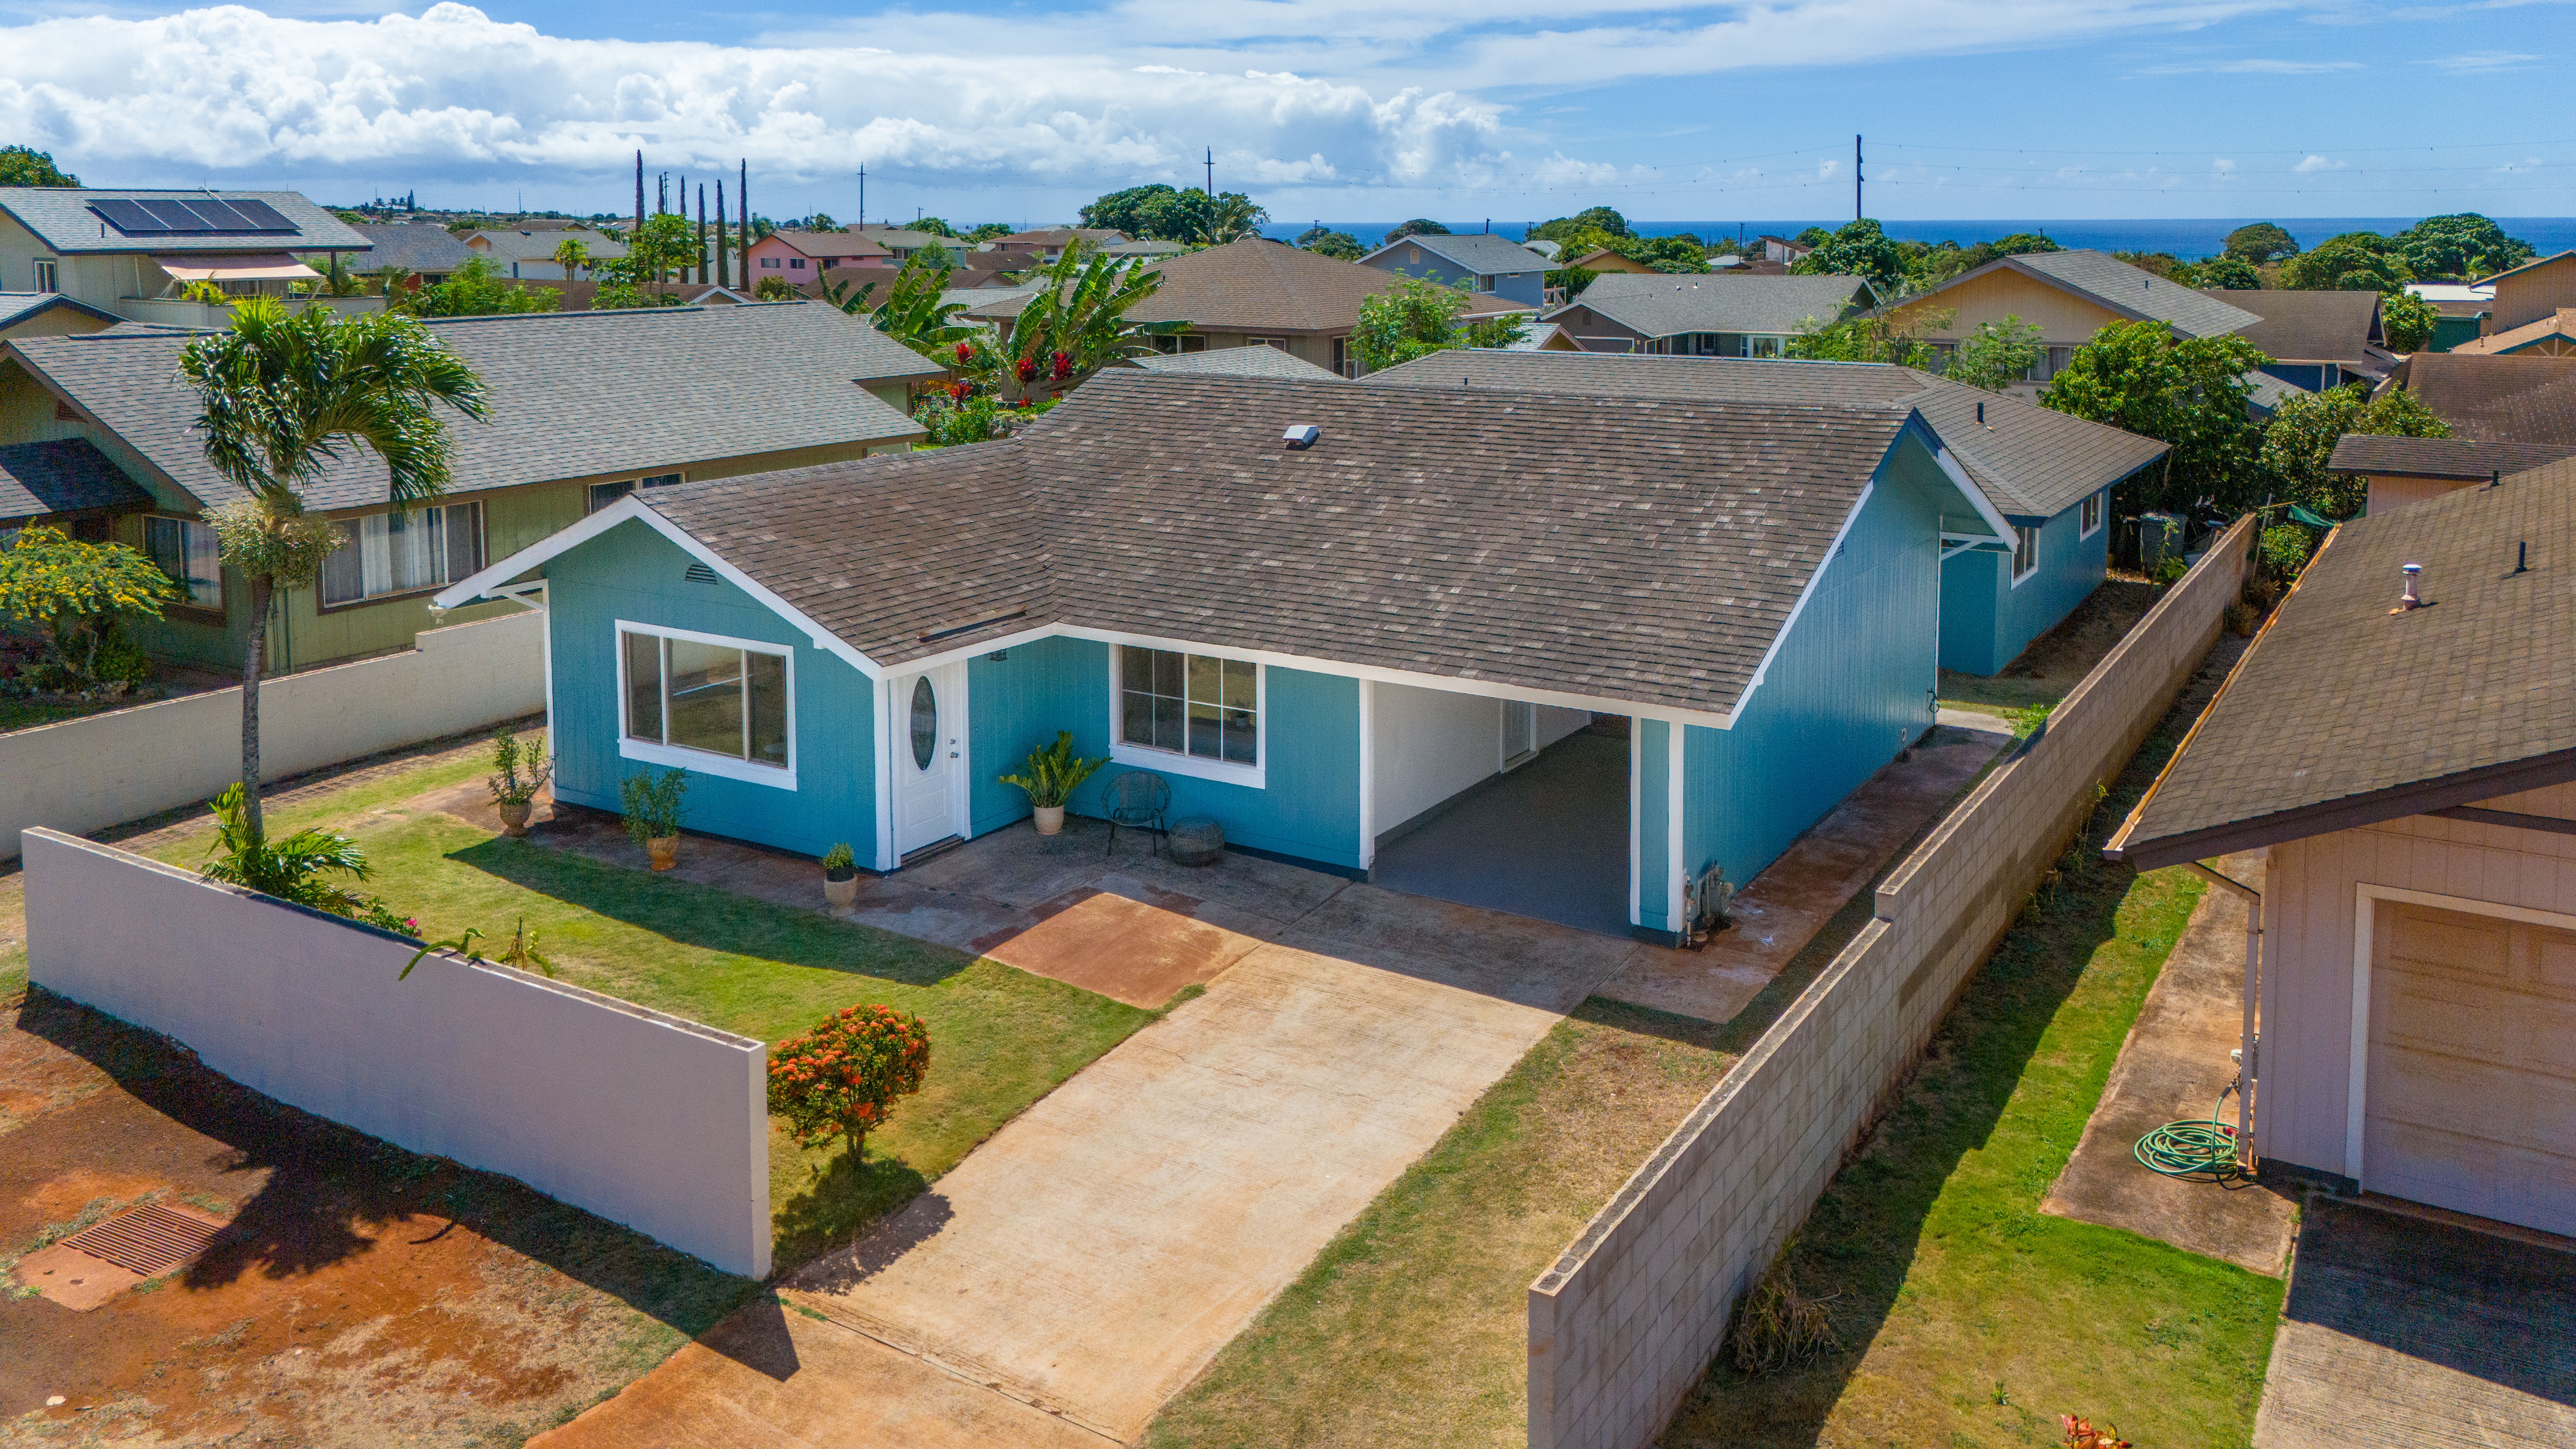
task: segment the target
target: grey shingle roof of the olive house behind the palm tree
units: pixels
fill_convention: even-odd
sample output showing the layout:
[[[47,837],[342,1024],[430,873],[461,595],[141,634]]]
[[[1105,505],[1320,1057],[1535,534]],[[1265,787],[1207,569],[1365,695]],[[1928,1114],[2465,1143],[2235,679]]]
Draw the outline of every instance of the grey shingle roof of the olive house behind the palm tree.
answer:
[[[438,317],[430,335],[482,374],[492,423],[448,415],[453,492],[670,472],[690,464],[920,436],[860,382],[940,366],[819,302]],[[206,464],[180,333],[5,343],[170,482],[214,508],[240,490]],[[304,490],[309,508],[386,500],[384,462],[350,449]]]

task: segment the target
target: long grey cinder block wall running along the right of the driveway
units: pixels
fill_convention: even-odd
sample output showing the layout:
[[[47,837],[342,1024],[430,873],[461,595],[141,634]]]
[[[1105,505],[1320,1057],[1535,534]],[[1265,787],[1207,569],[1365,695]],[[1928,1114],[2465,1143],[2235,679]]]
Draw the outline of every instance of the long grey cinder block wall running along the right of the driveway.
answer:
[[[1530,1284],[1530,1446],[1651,1444],[1739,1294],[2218,642],[2241,518],[1878,890],[1875,920]]]

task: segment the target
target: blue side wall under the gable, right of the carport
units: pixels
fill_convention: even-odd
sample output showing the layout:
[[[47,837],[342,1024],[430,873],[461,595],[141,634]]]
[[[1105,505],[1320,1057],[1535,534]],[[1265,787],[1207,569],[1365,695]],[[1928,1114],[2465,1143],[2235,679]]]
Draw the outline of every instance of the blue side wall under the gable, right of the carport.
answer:
[[[1932,724],[1942,492],[1899,443],[1734,730],[1682,737],[1685,869],[1754,879]]]

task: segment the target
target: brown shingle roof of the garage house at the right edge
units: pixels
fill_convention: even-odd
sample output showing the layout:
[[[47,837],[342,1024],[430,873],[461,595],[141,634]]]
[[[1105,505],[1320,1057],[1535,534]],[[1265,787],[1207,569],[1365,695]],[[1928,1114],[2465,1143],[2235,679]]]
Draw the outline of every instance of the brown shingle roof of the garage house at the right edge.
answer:
[[[2424,608],[2393,611],[2398,565]],[[2151,869],[2576,779],[2568,639],[2576,462],[2344,523],[2110,848]]]

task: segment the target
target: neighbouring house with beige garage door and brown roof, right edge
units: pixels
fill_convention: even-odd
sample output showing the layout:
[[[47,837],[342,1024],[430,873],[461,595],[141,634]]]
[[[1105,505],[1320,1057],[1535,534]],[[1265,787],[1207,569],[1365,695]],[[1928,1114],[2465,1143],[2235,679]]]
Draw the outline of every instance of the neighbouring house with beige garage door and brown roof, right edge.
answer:
[[[2344,523],[2112,835],[2264,851],[2267,1168],[2576,1235],[2571,567],[2568,462]]]

